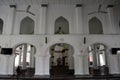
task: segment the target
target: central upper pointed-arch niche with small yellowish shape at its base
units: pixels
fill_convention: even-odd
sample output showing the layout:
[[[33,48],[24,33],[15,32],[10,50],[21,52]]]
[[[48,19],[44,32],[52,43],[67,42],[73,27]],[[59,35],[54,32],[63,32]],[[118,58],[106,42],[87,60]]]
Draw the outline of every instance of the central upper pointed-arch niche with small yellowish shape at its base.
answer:
[[[55,34],[69,34],[69,22],[62,16],[55,21]]]

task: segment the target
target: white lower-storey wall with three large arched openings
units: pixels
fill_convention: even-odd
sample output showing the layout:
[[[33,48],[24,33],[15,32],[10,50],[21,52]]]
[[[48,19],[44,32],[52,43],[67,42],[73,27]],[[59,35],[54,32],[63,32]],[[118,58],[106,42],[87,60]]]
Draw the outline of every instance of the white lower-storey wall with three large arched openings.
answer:
[[[49,75],[49,47],[55,43],[67,43],[74,48],[74,68],[76,75],[88,74],[88,53],[87,48],[93,43],[103,43],[107,46],[107,60],[111,74],[120,74],[120,63],[118,59],[120,56],[112,55],[110,49],[113,47],[119,47],[118,35],[84,35],[86,36],[86,44],[83,44],[83,35],[66,35],[56,36],[47,35],[48,43],[45,44],[45,36],[0,36],[2,42],[1,47],[12,47],[21,43],[31,43],[36,47],[36,71],[35,75]],[[9,38],[9,39],[7,39]],[[61,40],[62,39],[62,40]],[[81,51],[82,50],[82,51]],[[0,56],[0,74],[13,74],[14,54],[10,56]],[[47,61],[46,61],[47,60]],[[9,64],[8,64],[9,63]],[[8,68],[9,67],[9,68]]]

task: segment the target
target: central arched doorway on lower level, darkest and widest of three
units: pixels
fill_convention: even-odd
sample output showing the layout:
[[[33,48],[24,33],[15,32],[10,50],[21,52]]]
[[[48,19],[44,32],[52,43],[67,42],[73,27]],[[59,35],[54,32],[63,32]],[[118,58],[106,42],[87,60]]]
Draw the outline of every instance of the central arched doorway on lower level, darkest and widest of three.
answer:
[[[66,43],[56,43],[50,47],[50,75],[73,75],[73,47]]]

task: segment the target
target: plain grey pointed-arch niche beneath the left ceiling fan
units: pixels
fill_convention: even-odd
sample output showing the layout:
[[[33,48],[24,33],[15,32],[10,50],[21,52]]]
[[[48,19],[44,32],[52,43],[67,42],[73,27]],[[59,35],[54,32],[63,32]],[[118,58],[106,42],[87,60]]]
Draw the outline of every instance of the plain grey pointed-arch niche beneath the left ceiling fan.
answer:
[[[34,34],[34,21],[26,17],[21,21],[20,34]]]

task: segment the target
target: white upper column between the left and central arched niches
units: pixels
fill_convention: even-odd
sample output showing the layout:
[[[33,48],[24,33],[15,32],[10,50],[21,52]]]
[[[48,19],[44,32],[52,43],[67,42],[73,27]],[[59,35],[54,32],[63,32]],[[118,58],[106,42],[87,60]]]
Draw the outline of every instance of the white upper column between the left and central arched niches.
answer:
[[[47,4],[41,5],[41,10],[39,12],[39,21],[38,21],[38,34],[46,34],[47,28]]]

